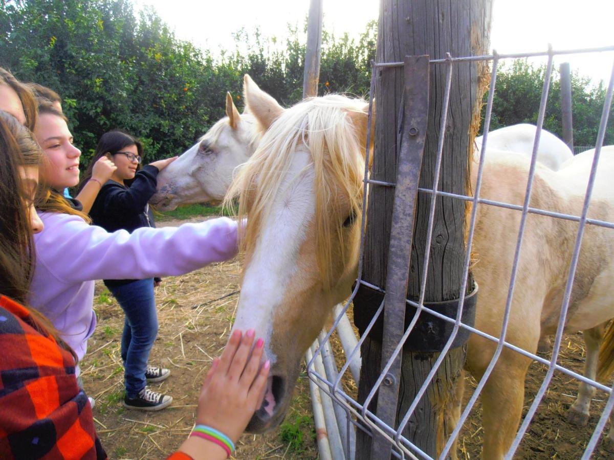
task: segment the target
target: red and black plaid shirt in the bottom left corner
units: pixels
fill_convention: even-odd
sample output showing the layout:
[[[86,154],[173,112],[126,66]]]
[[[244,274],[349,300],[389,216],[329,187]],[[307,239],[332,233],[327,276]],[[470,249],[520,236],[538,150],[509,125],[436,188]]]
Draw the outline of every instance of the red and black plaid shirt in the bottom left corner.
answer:
[[[0,297],[0,458],[106,458],[75,362]]]

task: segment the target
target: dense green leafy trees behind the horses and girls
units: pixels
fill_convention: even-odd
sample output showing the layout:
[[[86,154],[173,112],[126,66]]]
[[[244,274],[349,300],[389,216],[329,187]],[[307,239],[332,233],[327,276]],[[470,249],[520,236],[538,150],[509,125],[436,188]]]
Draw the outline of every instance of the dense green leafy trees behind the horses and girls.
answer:
[[[58,91],[87,164],[112,128],[141,137],[150,161],[181,153],[224,114],[225,93],[241,107],[243,74],[282,105],[301,98],[303,31],[284,46],[258,29],[235,34],[236,49],[213,55],[177,39],[153,10],[135,16],[130,0],[0,2],[0,66],[22,81]],[[324,31],[319,93],[367,96],[376,22],[359,39]],[[543,68],[516,61],[497,82],[492,128],[537,120]],[[576,144],[594,144],[603,86],[573,75]],[[545,128],[561,136],[558,80]],[[611,128],[612,129],[612,128]],[[610,131],[606,140],[614,144]]]

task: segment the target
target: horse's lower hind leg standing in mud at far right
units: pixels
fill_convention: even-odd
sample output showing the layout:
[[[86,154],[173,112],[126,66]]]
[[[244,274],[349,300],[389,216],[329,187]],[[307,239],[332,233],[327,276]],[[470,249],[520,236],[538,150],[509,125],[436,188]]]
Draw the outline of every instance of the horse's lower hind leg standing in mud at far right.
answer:
[[[591,329],[582,331],[584,342],[586,343],[586,362],[584,365],[584,375],[586,378],[595,380],[597,375],[597,362],[599,360],[599,347],[604,338],[605,325],[599,324]],[[588,385],[585,382],[580,383],[580,391],[578,399],[567,410],[567,421],[574,425],[585,426],[590,416],[589,408],[591,407],[591,399],[595,396],[596,388]]]

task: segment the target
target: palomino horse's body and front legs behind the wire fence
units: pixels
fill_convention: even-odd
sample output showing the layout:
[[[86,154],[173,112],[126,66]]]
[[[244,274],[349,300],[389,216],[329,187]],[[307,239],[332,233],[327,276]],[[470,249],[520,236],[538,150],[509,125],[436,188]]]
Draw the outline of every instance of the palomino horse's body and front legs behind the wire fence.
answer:
[[[530,206],[580,215],[592,161],[592,154],[581,154],[558,172],[537,163]],[[522,205],[528,171],[529,160],[521,155],[491,155],[484,166],[481,197]],[[604,155],[600,158],[589,218],[614,221],[612,174],[614,158]],[[495,337],[499,337],[502,326],[520,220],[518,211],[488,205],[478,209],[473,239],[478,262],[473,273],[480,285],[480,301],[475,327]],[[577,222],[528,215],[505,337],[508,342],[535,353],[540,334],[556,332],[577,230]],[[600,339],[595,330],[614,316],[610,282],[614,275],[610,256],[613,250],[612,229],[586,226],[565,330],[585,331],[589,348]],[[483,375],[495,347],[495,343],[476,335],[470,338],[467,368],[476,378]],[[608,348],[607,343],[604,348]],[[611,370],[611,344],[609,350],[609,356],[603,356],[603,367]],[[529,358],[504,348],[484,387],[484,458],[502,458],[515,437],[530,362]],[[588,377],[594,378],[596,362],[587,361],[586,369]],[[582,392],[588,388],[581,386],[578,400],[583,399]],[[583,412],[583,408],[575,404],[571,412]],[[610,439],[613,433],[608,434]]]

